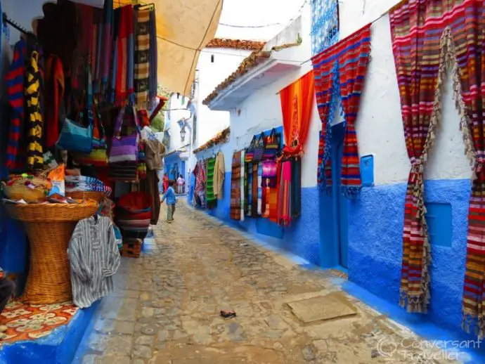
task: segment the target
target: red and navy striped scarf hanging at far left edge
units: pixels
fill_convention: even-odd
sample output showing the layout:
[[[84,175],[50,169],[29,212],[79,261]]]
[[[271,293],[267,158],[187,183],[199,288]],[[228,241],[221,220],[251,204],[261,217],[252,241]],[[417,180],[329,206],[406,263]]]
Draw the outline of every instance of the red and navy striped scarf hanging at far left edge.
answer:
[[[10,131],[8,133],[8,146],[6,150],[6,168],[15,169],[16,162],[19,162],[20,141],[24,138],[23,120],[24,110],[24,79],[25,79],[25,56],[27,44],[20,39],[13,50],[13,61],[5,76],[7,87],[8,103],[11,106]],[[22,168],[21,163],[18,167]]]

